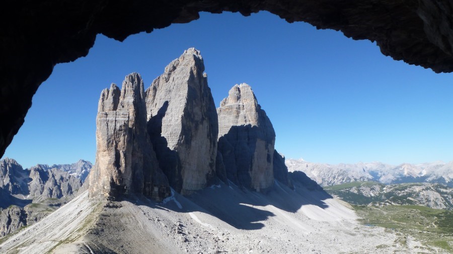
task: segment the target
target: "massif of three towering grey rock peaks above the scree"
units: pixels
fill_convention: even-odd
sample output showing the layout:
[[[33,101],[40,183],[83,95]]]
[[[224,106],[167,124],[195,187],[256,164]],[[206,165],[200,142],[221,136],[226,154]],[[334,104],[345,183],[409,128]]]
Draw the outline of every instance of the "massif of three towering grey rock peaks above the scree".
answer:
[[[252,88],[235,85],[216,109],[203,71],[200,51],[190,48],[146,91],[138,73],[126,76],[121,91],[115,84],[102,91],[90,197],[161,201],[170,187],[189,195],[218,180],[263,191],[274,184],[274,168],[290,186]]]

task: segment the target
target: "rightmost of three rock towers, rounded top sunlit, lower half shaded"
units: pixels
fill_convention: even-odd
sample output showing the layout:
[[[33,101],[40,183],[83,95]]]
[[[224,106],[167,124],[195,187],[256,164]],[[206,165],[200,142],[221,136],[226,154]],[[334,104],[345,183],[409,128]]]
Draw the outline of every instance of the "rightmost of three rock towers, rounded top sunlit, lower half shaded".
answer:
[[[263,190],[273,184],[275,132],[252,88],[235,85],[218,114],[218,151],[230,180]]]

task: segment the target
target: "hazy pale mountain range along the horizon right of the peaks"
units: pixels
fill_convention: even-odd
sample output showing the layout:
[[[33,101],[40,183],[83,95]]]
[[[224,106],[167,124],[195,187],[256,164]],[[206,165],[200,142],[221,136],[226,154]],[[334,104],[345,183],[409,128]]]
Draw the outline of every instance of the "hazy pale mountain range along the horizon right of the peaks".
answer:
[[[302,171],[321,186],[374,181],[383,184],[434,183],[453,187],[453,161],[394,166],[381,162],[330,165],[286,159],[285,164],[289,172]]]

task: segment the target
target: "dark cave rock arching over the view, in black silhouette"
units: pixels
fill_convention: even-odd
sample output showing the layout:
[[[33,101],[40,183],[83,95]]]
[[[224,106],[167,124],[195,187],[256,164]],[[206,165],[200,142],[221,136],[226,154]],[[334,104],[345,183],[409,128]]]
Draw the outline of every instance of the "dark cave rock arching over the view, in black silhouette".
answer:
[[[123,41],[196,20],[201,11],[269,11],[287,22],[375,41],[395,60],[453,71],[453,0],[6,0],[0,11],[0,156],[55,64],[86,56],[97,34]]]

